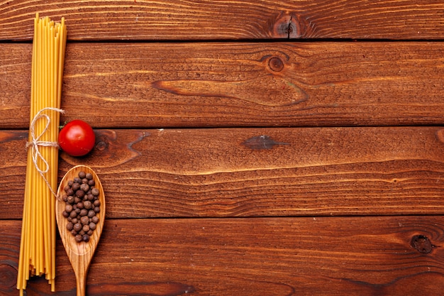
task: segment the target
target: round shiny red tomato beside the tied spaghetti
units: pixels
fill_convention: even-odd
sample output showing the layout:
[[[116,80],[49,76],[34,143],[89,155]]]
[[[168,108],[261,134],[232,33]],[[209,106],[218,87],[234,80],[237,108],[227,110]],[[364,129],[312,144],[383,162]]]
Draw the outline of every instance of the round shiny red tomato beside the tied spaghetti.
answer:
[[[86,122],[75,119],[68,122],[59,133],[59,146],[72,156],[83,156],[94,148],[96,135]]]

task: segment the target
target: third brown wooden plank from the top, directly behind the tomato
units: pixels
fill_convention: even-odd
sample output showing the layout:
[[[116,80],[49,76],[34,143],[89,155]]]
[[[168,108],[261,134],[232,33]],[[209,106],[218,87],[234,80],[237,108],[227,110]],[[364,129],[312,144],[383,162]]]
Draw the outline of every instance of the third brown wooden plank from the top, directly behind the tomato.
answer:
[[[444,130],[96,130],[111,218],[444,214]],[[20,219],[26,131],[0,131],[0,219]],[[145,206],[140,207],[142,202]]]

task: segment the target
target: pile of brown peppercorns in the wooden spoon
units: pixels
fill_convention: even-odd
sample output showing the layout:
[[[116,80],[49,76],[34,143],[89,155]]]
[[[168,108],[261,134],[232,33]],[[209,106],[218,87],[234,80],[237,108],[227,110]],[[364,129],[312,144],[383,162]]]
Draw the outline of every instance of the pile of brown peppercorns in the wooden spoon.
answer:
[[[89,241],[89,236],[99,223],[100,200],[99,189],[94,187],[91,173],[79,172],[78,177],[68,181],[65,186],[63,201],[65,211],[63,216],[68,220],[67,230],[71,232],[77,242]]]

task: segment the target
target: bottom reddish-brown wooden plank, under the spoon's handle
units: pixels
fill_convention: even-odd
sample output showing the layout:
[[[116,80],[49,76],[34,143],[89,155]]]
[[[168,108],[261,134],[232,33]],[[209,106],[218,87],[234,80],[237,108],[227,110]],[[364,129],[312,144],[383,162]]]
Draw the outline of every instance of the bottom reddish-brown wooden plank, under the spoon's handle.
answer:
[[[20,221],[0,231],[0,293],[18,295]],[[443,231],[443,216],[109,219],[87,294],[440,295]],[[60,239],[55,287],[75,295]],[[33,279],[27,295],[49,289]]]

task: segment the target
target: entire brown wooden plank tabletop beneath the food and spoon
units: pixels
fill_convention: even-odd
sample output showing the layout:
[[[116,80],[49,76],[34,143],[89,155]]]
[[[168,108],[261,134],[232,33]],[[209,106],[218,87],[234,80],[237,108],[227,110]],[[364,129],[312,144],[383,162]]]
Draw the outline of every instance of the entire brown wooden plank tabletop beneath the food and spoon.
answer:
[[[0,2],[0,294],[16,276],[33,17],[96,133],[87,295],[443,295],[442,1]],[[56,293],[75,295],[57,239]]]

